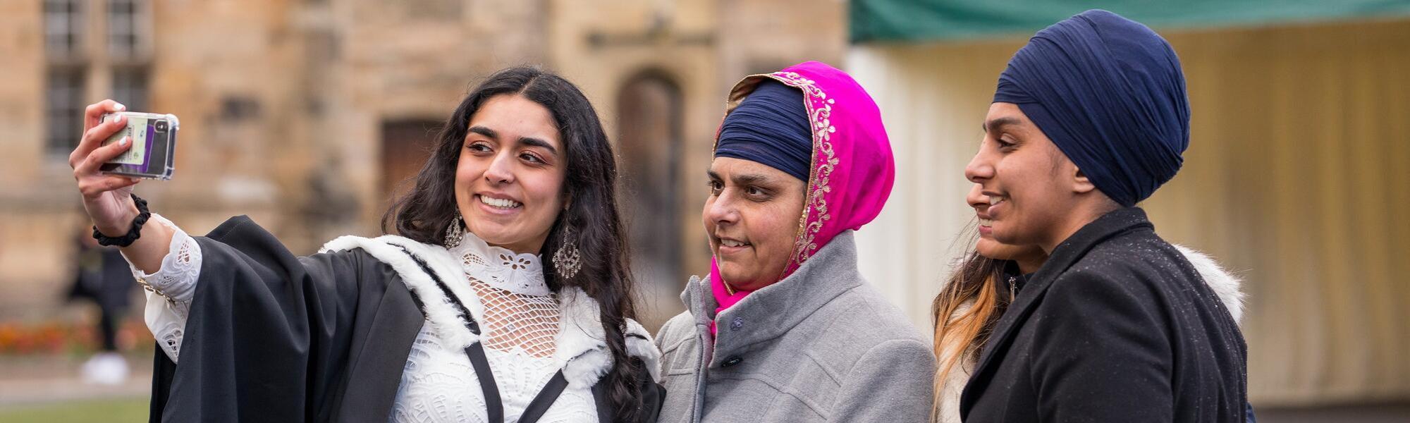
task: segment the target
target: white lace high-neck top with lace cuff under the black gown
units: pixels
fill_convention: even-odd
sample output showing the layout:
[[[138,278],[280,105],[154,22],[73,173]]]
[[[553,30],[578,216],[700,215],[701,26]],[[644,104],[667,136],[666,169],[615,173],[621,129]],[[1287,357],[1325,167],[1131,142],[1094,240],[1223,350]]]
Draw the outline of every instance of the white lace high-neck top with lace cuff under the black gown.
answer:
[[[155,214],[152,219],[175,233],[169,254],[157,274],[142,274],[137,268],[133,274],[165,293],[147,292],[145,320],[162,351],[176,362],[200,274],[200,245],[166,219]],[[329,243],[326,251],[381,240],[344,238]],[[334,248],[340,241],[345,241],[343,248]],[[458,319],[437,321],[437,316],[444,317],[446,312],[437,314],[427,310],[427,320],[406,358],[391,422],[486,422],[479,381],[464,351],[474,341],[484,343],[503,402],[505,422],[517,422],[529,402],[560,369],[564,369],[570,385],[539,422],[598,422],[591,388],[611,367],[611,357],[591,354],[596,352],[594,347],[601,347],[601,340],[594,337],[601,338],[602,334],[595,302],[580,289],[550,290],[537,255],[491,247],[474,234],[467,233],[461,244],[448,251],[434,245],[417,247],[440,248],[458,261],[455,265],[464,272],[462,281],[470,290],[464,286],[453,286],[451,290],[472,293],[457,296],[479,321],[482,333],[470,336]],[[417,289],[413,281],[406,283],[423,296],[423,302],[424,292],[434,289]],[[448,307],[448,303],[441,303]],[[629,326],[629,331],[644,333],[634,321]],[[629,343],[629,350],[642,348],[651,347]],[[574,368],[570,361],[582,365]]]

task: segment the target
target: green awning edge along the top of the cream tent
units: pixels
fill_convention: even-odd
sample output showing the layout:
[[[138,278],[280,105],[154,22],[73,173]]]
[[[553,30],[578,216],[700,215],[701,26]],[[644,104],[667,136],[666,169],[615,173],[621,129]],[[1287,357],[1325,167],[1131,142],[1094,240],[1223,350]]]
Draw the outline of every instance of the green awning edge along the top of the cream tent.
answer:
[[[1089,8],[1156,28],[1410,16],[1410,0],[852,0],[852,42],[1026,35]]]

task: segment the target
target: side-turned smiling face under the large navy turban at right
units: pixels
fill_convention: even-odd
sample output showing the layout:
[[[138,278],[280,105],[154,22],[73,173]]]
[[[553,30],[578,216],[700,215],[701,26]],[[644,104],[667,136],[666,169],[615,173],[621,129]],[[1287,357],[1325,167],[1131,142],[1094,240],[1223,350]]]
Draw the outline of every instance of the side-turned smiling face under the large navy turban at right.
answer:
[[[990,203],[986,213],[994,240],[1049,251],[1070,234],[1070,214],[1079,209],[1081,195],[1094,190],[1012,103],[988,107],[984,140],[964,166],[964,176],[980,185]]]

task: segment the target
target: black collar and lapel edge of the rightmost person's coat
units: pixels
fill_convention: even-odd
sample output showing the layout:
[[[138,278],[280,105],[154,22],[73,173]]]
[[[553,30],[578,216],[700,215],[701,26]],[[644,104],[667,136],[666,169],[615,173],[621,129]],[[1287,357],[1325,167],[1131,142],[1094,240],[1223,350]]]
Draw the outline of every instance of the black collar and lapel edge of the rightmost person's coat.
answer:
[[[969,409],[974,405],[976,398],[970,393],[970,388],[974,386],[976,381],[983,384],[984,374],[991,371],[994,364],[995,351],[1007,350],[1012,341],[1017,321],[1025,321],[1028,314],[1032,314],[1034,307],[1038,305],[1035,300],[1043,296],[1048,286],[1058,279],[1059,275],[1067,271],[1073,264],[1087,255],[1093,247],[1101,244],[1103,241],[1122,234],[1129,230],[1155,230],[1151,220],[1146,219],[1145,210],[1141,207],[1125,207],[1115,212],[1110,212],[1097,217],[1087,226],[1083,226],[1077,233],[1067,237],[1067,240],[1058,244],[1053,248],[1052,255],[1038,272],[1034,274],[1028,283],[1024,286],[1022,295],[1014,299],[1014,303],[1008,306],[1004,316],[998,319],[994,326],[994,331],[988,338],[987,345],[980,354],[979,364],[974,367],[973,376],[970,378],[970,385],[964,388],[964,393],[960,395],[960,412],[967,415]]]

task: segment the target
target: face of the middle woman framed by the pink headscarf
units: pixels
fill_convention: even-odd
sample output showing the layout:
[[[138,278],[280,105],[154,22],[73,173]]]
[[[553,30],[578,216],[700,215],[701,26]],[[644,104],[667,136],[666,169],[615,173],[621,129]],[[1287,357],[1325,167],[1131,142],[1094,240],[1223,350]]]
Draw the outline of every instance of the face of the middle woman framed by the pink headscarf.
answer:
[[[719,275],[730,286],[757,290],[778,282],[802,216],[807,183],[767,165],[715,158],[702,214]]]

